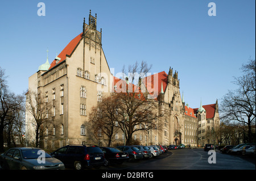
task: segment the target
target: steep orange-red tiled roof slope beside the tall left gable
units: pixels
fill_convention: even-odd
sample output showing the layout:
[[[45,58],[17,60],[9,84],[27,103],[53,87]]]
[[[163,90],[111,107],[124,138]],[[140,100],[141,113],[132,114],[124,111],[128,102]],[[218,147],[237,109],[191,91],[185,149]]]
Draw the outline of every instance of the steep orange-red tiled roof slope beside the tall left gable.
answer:
[[[82,39],[82,33],[80,33],[79,35],[77,35],[75,37],[75,39],[71,40],[69,42],[69,44],[60,52],[60,54],[57,56],[60,58],[60,61],[58,62],[58,64],[60,64],[60,62],[66,60],[66,56],[70,56],[71,53],[73,52],[73,50],[76,48],[77,44],[79,44],[80,40]],[[49,67],[49,69],[53,68],[53,66],[56,65],[56,60],[53,60],[51,63],[51,66]],[[49,70],[48,69],[48,70]]]

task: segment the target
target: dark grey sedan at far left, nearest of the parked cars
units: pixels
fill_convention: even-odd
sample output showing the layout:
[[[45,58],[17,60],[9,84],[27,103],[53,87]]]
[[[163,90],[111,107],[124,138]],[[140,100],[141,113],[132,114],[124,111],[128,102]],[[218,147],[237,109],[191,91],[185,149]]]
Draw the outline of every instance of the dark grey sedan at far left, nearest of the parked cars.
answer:
[[[40,148],[11,148],[0,155],[2,169],[10,170],[63,170],[65,166]]]

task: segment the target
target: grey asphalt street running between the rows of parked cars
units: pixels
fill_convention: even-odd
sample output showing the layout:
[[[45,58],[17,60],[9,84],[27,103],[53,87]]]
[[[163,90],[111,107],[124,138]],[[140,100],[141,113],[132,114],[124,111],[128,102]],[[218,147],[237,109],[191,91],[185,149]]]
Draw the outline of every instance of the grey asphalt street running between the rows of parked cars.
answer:
[[[203,149],[169,150],[157,158],[124,162],[101,170],[255,170],[255,157],[222,154],[216,150],[216,163],[210,164],[210,156]]]

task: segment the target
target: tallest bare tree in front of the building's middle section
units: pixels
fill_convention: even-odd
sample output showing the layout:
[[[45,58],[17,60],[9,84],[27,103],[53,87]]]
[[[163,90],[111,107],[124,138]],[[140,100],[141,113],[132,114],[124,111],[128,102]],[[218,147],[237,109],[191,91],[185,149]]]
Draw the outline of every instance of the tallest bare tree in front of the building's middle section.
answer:
[[[118,107],[118,115],[121,117],[118,127],[125,133],[126,145],[133,141],[133,134],[138,131],[149,131],[162,127],[164,111],[158,109],[155,93],[148,90],[152,80],[146,77],[151,66],[142,61],[139,65],[129,65],[126,72],[123,67],[123,79],[115,85],[115,92],[121,104]],[[150,85],[150,86],[148,86]],[[121,87],[120,87],[121,86]]]

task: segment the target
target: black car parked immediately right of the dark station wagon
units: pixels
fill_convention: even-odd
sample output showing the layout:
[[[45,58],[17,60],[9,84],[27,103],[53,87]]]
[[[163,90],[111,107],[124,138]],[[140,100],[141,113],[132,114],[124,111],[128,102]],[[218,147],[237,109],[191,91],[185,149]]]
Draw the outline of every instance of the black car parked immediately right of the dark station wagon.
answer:
[[[129,154],[123,152],[117,148],[112,147],[100,147],[105,155],[105,166],[109,166],[112,163],[122,164],[129,159]]]

